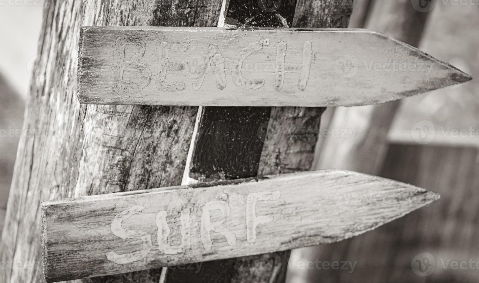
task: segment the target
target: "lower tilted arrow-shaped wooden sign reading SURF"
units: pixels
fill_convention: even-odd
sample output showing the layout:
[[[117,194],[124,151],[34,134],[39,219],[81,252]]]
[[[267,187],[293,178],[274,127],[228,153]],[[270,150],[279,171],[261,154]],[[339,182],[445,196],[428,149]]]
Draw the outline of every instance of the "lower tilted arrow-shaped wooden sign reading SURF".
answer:
[[[340,170],[42,204],[47,282],[340,241],[439,195]]]

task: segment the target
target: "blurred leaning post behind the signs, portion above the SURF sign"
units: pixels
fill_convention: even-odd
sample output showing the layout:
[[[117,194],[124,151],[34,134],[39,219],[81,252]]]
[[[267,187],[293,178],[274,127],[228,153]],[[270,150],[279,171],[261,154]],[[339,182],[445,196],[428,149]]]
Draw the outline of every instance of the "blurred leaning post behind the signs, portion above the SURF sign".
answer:
[[[410,0],[375,1],[373,6],[366,27],[414,46],[419,44],[428,13],[414,10]],[[352,129],[356,135],[354,138],[324,139],[317,168],[378,174],[388,150],[388,131],[399,104],[396,101],[335,109],[330,129]]]

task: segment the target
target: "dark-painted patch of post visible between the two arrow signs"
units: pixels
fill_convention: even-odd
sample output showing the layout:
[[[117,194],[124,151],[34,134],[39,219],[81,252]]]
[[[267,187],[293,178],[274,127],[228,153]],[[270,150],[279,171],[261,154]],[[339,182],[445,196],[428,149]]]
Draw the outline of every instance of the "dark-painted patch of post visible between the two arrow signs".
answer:
[[[269,107],[204,107],[190,165],[198,181],[254,177],[267,127]],[[261,134],[261,132],[260,132]]]

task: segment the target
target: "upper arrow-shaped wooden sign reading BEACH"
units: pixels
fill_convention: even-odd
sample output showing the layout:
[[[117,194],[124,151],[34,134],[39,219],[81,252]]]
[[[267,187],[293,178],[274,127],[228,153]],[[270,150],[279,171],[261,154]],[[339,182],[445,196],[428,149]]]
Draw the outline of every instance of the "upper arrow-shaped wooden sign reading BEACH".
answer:
[[[371,30],[83,27],[78,97],[91,104],[354,106],[469,79]]]

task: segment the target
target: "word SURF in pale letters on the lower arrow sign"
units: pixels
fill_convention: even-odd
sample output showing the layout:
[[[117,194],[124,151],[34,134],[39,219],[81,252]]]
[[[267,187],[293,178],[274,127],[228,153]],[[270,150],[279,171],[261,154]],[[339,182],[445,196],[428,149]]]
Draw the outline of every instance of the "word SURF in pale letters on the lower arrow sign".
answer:
[[[256,242],[256,227],[272,223],[274,217],[272,215],[257,215],[256,204],[258,202],[277,201],[281,196],[280,191],[274,192],[250,192],[246,197],[246,241],[249,244]],[[226,242],[229,246],[234,246],[237,243],[237,235],[228,227],[224,226],[225,221],[231,213],[230,204],[223,200],[211,200],[201,205],[201,224],[200,224],[200,236],[203,249],[210,251],[213,246],[211,240],[211,232],[219,233],[226,238]],[[147,257],[155,247],[151,235],[143,230],[131,230],[125,229],[122,226],[122,222],[131,217],[132,215],[140,213],[145,207],[141,205],[134,205],[117,215],[115,215],[112,223],[112,233],[122,239],[139,239],[143,242],[143,248],[131,253],[116,253],[109,251],[105,253],[106,258],[116,264],[128,264],[138,260],[142,260]],[[211,212],[219,211],[221,216],[216,220],[211,220]],[[171,234],[171,228],[168,226],[166,210],[161,210],[156,214],[155,223],[157,226],[157,242],[156,249],[160,253],[167,255],[186,254],[191,248],[191,222],[190,222],[190,209],[184,208],[181,211],[180,223],[181,223],[181,243],[177,246],[172,246],[167,242],[168,237]]]

